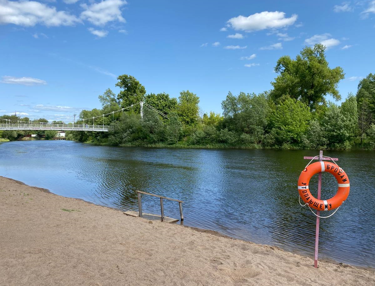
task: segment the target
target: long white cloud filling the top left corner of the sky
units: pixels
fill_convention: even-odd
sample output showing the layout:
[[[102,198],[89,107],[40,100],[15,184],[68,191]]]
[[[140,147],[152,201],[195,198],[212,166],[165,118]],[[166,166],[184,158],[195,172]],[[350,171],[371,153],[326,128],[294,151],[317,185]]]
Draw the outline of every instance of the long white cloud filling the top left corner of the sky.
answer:
[[[57,11],[36,1],[0,0],[0,24],[15,24],[21,26],[71,26],[81,22],[75,15],[66,11]]]

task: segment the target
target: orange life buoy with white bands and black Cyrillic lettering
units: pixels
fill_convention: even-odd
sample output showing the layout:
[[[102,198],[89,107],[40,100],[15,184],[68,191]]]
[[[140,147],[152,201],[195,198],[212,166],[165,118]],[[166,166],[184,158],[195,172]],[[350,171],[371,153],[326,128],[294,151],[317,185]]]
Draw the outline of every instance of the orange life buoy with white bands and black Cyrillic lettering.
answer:
[[[334,195],[329,200],[318,200],[311,195],[309,190],[309,182],[312,176],[319,172],[329,172],[335,176],[339,188]],[[315,162],[308,165],[305,170],[303,170],[298,178],[298,192],[302,200],[309,204],[309,207],[315,210],[333,210],[341,206],[341,204],[348,198],[349,195],[349,178],[342,168],[331,162]]]

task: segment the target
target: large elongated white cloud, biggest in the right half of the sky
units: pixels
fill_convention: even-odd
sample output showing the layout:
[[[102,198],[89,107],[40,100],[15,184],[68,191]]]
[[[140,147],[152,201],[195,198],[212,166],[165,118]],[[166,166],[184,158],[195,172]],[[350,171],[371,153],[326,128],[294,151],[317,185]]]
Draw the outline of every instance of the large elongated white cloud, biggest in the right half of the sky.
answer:
[[[260,31],[265,29],[282,28],[293,25],[298,16],[293,14],[290,18],[285,18],[284,12],[268,12],[255,13],[248,17],[237,16],[229,19],[227,22],[234,30],[242,30],[246,32]]]

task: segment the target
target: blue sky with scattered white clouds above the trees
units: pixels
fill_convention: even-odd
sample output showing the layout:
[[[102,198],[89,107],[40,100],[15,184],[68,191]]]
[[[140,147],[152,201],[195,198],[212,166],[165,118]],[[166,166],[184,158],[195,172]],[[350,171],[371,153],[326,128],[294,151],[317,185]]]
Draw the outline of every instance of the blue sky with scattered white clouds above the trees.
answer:
[[[375,1],[0,0],[0,114],[70,122],[120,74],[220,113],[228,91],[271,89],[278,58],[314,43],[355,94],[375,72]]]

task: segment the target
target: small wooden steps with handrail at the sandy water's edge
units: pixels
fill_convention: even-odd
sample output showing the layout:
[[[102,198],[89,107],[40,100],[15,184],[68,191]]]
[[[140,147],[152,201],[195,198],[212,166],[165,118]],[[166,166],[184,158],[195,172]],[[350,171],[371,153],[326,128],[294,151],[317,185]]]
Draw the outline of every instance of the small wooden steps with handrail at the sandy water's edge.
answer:
[[[162,222],[177,222],[178,219],[174,219],[172,217],[164,216],[164,207],[163,207],[163,200],[170,200],[170,201],[175,201],[178,202],[178,207],[180,209],[180,217],[181,217],[181,222],[184,220],[184,216],[182,214],[182,203],[183,201],[172,199],[172,198],[167,198],[159,195],[154,195],[146,192],[141,192],[141,191],[136,191],[138,195],[138,212],[134,212],[132,210],[128,210],[127,212],[124,212],[127,216],[134,216],[134,217],[144,217],[145,219],[150,219],[150,220],[161,220]],[[142,201],[141,201],[141,196],[143,195],[149,195],[152,197],[157,197],[160,198],[160,216],[158,214],[153,214],[153,213],[142,213]]]

